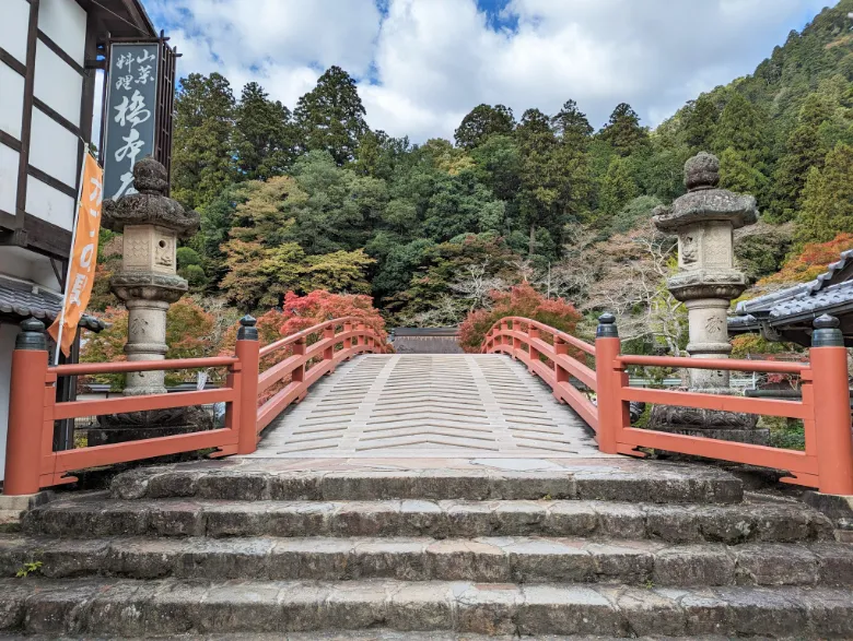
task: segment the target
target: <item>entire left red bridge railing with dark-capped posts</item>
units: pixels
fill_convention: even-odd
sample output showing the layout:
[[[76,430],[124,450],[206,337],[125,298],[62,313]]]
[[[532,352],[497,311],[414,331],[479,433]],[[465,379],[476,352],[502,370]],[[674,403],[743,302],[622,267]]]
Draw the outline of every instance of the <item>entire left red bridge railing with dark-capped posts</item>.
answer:
[[[214,449],[218,450],[215,455],[220,456],[249,454],[257,449],[260,431],[288,405],[303,399],[322,376],[358,354],[387,351],[379,334],[357,318],[326,321],[266,347],[258,343],[255,319],[246,317],[241,324],[233,357],[49,367],[44,324],[34,319],[24,321],[24,331],[17,336],[12,356],[3,494],[35,494],[43,487],[77,480],[69,474],[73,471],[180,452]],[[318,335],[318,340],[308,345]],[[290,349],[285,352],[288,347]],[[279,354],[282,359],[261,372],[261,357],[274,360]],[[196,392],[56,401],[57,379],[63,376],[199,368],[225,368],[224,387]],[[280,389],[273,389],[270,395],[269,390],[273,387]],[[219,429],[54,450],[55,420],[213,403],[225,404],[224,427]]]

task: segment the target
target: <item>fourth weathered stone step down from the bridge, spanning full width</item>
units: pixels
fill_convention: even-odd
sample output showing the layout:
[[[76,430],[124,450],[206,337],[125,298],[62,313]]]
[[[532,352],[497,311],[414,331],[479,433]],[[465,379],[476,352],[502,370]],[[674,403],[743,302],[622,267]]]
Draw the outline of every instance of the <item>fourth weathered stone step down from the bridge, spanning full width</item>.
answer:
[[[110,638],[386,628],[484,634],[850,638],[853,592],[469,582],[0,581],[0,628]]]

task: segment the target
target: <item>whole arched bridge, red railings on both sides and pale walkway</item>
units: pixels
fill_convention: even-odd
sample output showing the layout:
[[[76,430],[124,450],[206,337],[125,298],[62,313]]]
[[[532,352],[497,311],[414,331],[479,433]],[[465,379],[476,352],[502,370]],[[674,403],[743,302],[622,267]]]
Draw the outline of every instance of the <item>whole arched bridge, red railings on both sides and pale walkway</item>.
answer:
[[[205,449],[265,459],[476,460],[643,456],[640,448],[653,448],[782,470],[792,483],[853,495],[846,351],[831,327],[815,331],[810,363],[793,364],[621,355],[609,314],[594,345],[537,321],[504,318],[479,355],[393,354],[355,318],[261,347],[254,319],[241,323],[231,357],[49,367],[44,328],[25,321],[13,357],[4,494],[34,494],[87,467]],[[798,375],[803,397],[631,388],[630,366]],[[227,370],[222,389],[56,402],[59,377],[213,367]],[[638,429],[630,425],[630,401],[798,418],[805,451]],[[55,420],[212,403],[226,405],[219,429],[54,451]]]

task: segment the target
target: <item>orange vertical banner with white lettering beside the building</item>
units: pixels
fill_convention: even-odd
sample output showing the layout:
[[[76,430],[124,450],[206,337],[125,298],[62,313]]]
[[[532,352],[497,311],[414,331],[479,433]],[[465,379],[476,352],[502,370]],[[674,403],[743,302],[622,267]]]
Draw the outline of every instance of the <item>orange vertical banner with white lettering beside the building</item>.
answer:
[[[101,229],[101,204],[104,200],[104,170],[91,153],[83,158],[80,200],[77,209],[77,226],[71,259],[66,276],[66,297],[62,311],[47,332],[57,343],[61,342],[62,354],[71,353],[80,317],[92,296],[97,262],[97,236]]]

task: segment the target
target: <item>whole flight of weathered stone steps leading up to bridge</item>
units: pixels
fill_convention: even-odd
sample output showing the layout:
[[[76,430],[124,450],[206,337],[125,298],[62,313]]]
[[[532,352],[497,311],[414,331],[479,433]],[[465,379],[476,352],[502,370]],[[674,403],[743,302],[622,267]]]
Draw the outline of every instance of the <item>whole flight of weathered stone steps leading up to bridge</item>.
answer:
[[[626,460],[547,472],[276,464],[137,470],[109,492],[27,513],[22,533],[0,538],[0,628],[51,639],[853,637],[853,546],[801,503],[745,499],[725,472]]]

